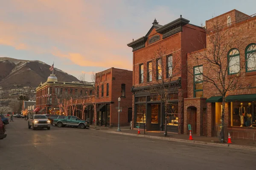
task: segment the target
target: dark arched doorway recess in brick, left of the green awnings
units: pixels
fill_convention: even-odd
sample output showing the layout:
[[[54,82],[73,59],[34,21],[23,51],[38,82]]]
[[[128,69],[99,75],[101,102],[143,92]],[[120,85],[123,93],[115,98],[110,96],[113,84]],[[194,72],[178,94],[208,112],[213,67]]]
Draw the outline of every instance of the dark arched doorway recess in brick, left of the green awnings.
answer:
[[[195,106],[189,106],[186,109],[187,113],[187,125],[191,125],[192,134],[197,134],[197,108]]]

